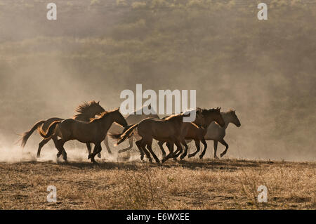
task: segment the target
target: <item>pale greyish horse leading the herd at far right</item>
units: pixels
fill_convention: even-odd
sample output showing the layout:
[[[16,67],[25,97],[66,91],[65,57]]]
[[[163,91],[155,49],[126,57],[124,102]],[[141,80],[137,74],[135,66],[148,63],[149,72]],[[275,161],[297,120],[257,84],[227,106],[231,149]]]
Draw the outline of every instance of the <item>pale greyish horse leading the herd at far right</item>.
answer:
[[[225,146],[225,150],[222,153],[220,153],[220,157],[223,157],[228,150],[228,143],[226,143],[224,140],[228,124],[232,123],[232,124],[235,124],[235,126],[237,127],[241,126],[235,110],[229,110],[228,112],[221,112],[220,114],[222,114],[222,117],[225,121],[225,126],[220,127],[218,124],[216,124],[216,122],[212,122],[207,129],[206,135],[204,136],[205,140],[213,140],[213,143],[214,143],[213,157],[215,159],[218,159],[216,155],[218,142],[222,143]],[[206,148],[204,148],[202,153],[199,155],[200,159],[204,157],[205,152],[206,152]],[[195,154],[190,154],[188,157],[193,157],[195,156]]]

